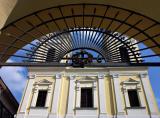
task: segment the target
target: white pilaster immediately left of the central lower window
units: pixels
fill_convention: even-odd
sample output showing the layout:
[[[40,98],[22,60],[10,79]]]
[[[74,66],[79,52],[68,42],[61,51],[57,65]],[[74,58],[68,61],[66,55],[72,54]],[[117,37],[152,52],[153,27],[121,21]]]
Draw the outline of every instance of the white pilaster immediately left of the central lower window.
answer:
[[[69,79],[69,96],[66,118],[73,118],[75,109],[75,76],[70,76]]]

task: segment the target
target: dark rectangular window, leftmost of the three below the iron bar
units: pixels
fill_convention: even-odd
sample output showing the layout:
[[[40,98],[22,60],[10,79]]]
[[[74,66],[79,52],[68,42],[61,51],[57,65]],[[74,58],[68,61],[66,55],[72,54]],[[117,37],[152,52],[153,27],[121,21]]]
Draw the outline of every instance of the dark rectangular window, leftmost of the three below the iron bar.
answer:
[[[46,102],[47,91],[40,90],[38,93],[36,107],[44,107]]]

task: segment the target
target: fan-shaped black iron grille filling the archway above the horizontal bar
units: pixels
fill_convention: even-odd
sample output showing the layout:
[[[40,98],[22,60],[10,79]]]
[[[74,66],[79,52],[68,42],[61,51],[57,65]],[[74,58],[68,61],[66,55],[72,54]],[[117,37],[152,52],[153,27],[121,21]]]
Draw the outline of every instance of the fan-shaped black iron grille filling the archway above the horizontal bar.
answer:
[[[26,62],[17,65],[41,65],[50,55],[51,62],[56,62],[52,64],[57,65],[69,52],[89,49],[113,65],[158,66],[160,62],[146,58],[159,57],[159,37],[159,22],[131,10],[104,4],[61,5],[36,11],[2,28],[0,61],[1,65],[12,65],[6,61],[13,56]],[[127,61],[121,53],[125,49]],[[18,50],[24,53],[16,53]],[[144,53],[147,50],[152,53]]]

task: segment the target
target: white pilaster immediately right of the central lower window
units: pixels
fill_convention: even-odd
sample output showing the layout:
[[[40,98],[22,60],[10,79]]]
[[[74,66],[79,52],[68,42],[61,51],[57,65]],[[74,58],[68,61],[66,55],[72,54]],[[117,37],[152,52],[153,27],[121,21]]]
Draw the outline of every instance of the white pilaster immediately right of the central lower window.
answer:
[[[107,117],[104,75],[98,75],[100,118]]]

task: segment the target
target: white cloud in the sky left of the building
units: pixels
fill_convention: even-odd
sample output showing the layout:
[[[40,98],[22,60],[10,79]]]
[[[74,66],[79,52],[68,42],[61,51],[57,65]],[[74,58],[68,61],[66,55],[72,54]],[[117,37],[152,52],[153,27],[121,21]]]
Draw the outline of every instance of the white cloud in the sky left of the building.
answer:
[[[13,60],[8,60],[13,62]],[[23,88],[26,83],[26,69],[23,67],[2,67],[0,69],[0,76],[2,77],[5,84],[16,96],[23,92]]]

